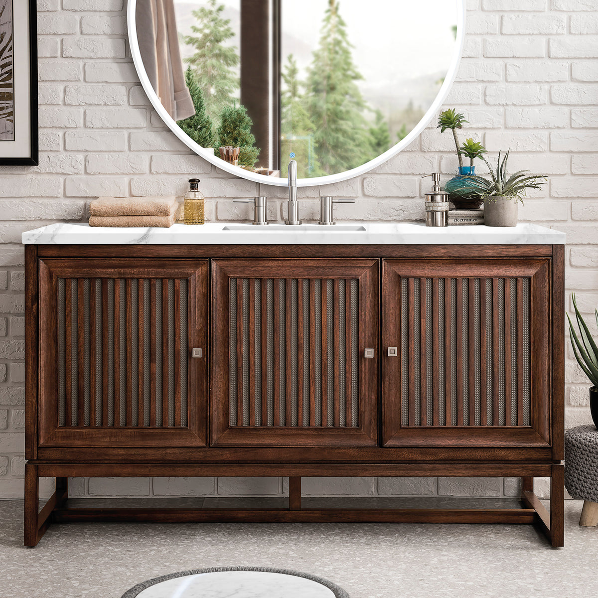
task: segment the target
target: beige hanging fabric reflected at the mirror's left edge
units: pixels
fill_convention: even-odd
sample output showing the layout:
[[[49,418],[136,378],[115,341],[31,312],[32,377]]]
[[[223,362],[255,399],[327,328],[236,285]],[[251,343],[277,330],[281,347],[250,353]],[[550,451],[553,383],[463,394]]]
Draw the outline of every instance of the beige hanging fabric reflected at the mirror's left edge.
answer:
[[[173,0],[137,0],[137,38],[149,83],[173,120],[195,114],[185,83]]]

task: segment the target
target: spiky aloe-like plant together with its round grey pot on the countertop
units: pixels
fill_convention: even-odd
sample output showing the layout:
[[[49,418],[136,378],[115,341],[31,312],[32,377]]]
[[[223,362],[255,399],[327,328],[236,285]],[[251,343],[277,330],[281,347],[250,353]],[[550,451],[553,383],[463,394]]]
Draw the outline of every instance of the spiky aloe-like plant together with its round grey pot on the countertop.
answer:
[[[507,173],[509,151],[502,157],[498,152],[496,169],[490,166],[483,155],[480,155],[490,170],[490,178],[468,176],[468,185],[462,190],[477,193],[486,203],[484,207],[484,224],[486,226],[512,227],[517,225],[518,202],[523,205],[523,197],[528,189],[539,189],[546,180],[542,175],[525,176],[529,170],[518,170],[513,175]],[[541,179],[544,179],[542,181]]]

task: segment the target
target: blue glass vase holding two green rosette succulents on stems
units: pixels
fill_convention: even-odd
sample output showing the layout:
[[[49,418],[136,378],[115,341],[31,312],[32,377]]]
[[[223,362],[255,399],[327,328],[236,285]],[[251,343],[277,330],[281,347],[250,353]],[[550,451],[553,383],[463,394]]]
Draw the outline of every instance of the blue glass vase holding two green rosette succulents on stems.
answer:
[[[478,209],[480,208],[483,199],[478,194],[468,190],[469,180],[468,176],[475,175],[474,158],[486,150],[481,144],[475,144],[473,139],[467,139],[463,144],[459,144],[459,136],[457,136],[457,129],[462,129],[463,124],[467,123],[465,115],[459,114],[454,108],[449,108],[440,113],[438,117],[437,129],[444,133],[447,129],[453,133],[454,146],[459,159],[459,174],[453,176],[444,185],[444,191],[449,194],[449,200],[457,209]],[[463,166],[463,158],[465,155],[469,158],[469,166]]]

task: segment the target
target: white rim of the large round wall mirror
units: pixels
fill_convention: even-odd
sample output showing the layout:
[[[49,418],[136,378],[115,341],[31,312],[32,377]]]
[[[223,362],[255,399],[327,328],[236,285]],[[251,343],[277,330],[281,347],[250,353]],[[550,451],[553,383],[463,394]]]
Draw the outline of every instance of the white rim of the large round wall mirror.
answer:
[[[382,164],[389,158],[392,158],[393,155],[398,154],[401,149],[407,147],[417,136],[425,129],[428,125],[429,121],[436,115],[440,106],[443,105],[444,100],[446,99],[447,95],[451,87],[453,86],[454,78],[457,74],[457,69],[459,68],[459,62],[461,60],[461,54],[463,51],[463,41],[465,39],[465,1],[466,0],[457,0],[457,39],[456,45],[453,53],[453,57],[451,59],[451,63],[449,66],[449,71],[447,72],[446,77],[444,78],[444,82],[438,91],[438,95],[436,99],[432,103],[432,105],[428,108],[428,111],[425,115],[423,115],[422,120],[417,123],[413,130],[408,133],[398,144],[393,145],[392,148],[387,149],[383,154],[380,154],[377,158],[362,164],[356,168],[352,168],[351,170],[346,170],[345,172],[339,172],[334,175],[327,175],[327,176],[315,176],[314,178],[310,179],[297,179],[297,187],[316,187],[318,185],[329,185],[331,183],[336,183],[340,181],[346,181],[347,179],[353,178],[354,176],[359,176],[368,172],[368,170],[373,169],[379,164]],[[188,148],[192,149],[196,152],[197,155],[200,155],[202,158],[208,160],[208,162],[214,164],[219,169],[224,170],[225,172],[230,173],[231,175],[240,176],[241,178],[247,179],[248,181],[254,181],[257,183],[261,183],[263,185],[276,185],[277,187],[286,187],[288,185],[288,179],[279,178],[276,176],[266,176],[266,175],[257,175],[255,172],[249,172],[248,170],[240,169],[237,166],[233,166],[232,164],[228,164],[224,160],[216,157],[213,154],[213,151],[209,151],[205,148],[202,148],[196,142],[191,139],[187,133],[184,133],[181,127],[176,124],[176,121],[166,112],[164,106],[158,99],[157,94],[154,91],[154,88],[149,83],[149,79],[147,73],[145,72],[145,66],[143,61],[141,60],[141,54],[139,53],[139,44],[137,41],[137,23],[135,20],[135,7],[137,4],[137,0],[128,0],[129,4],[127,6],[127,27],[129,29],[129,45],[131,48],[131,54],[133,57],[133,63],[135,64],[135,68],[137,69],[137,74],[139,75],[139,80],[147,94],[149,101],[154,106],[155,110],[160,115],[160,118],[166,123],[166,126],[185,144]]]

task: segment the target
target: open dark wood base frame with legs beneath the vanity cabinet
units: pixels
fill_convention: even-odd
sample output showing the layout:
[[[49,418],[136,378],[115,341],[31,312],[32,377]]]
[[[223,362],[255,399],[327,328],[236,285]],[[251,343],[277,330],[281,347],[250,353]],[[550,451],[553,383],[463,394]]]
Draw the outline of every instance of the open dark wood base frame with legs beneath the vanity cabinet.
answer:
[[[130,477],[160,475],[256,475],[265,468],[269,477],[289,475],[288,509],[203,509],[203,508],[68,508],[68,477],[90,476]],[[560,463],[416,463],[373,464],[363,466],[361,475],[393,475],[396,477],[463,477],[467,475],[487,477],[521,477],[522,508],[505,509],[303,509],[301,508],[301,477],[304,475],[343,475],[346,465],[328,464],[316,466],[298,464],[235,464],[185,465],[127,464],[117,463],[36,463],[25,464],[25,530],[24,544],[38,544],[53,521],[145,521],[160,523],[486,523],[486,524],[535,524],[547,535],[553,547],[563,546],[564,526],[564,466]],[[466,473],[467,472],[467,473]],[[294,475],[293,475],[294,474]],[[263,473],[262,473],[263,475]],[[346,472],[345,472],[346,475]],[[550,477],[550,514],[533,493],[534,477]],[[56,492],[38,512],[39,477],[55,477]],[[135,477],[135,476],[134,476]]]

